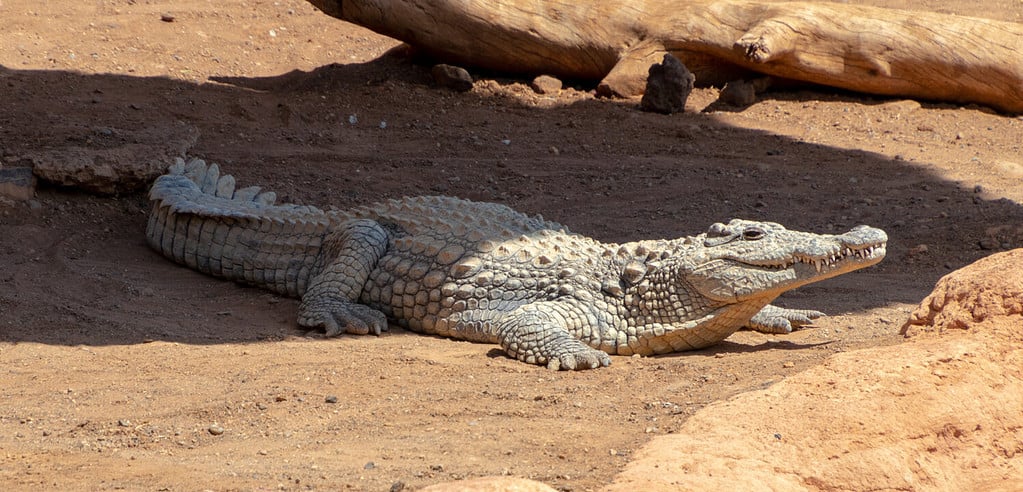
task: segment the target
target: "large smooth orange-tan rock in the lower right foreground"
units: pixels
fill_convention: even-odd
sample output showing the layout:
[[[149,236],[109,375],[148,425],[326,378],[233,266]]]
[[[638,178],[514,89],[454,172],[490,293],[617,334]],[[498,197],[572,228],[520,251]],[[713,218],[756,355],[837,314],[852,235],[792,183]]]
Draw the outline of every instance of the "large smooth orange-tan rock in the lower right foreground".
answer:
[[[709,405],[607,490],[1023,490],[1021,265],[945,276],[904,344]]]

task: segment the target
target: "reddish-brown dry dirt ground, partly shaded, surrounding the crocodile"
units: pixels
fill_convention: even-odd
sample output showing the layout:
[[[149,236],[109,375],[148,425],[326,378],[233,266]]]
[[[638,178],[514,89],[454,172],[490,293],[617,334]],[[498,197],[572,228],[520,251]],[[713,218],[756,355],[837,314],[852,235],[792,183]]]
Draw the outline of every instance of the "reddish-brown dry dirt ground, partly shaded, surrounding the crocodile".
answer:
[[[1023,20],[1019,1],[869,3]],[[781,299],[833,314],[811,329],[555,373],[400,329],[299,330],[296,301],[150,252],[144,193],[44,184],[0,205],[7,490],[388,490],[494,475],[595,490],[709,404],[901,343],[940,276],[1023,247],[1023,120],[984,107],[817,89],[740,109],[703,88],[665,117],[587,85],[541,96],[480,73],[456,94],[385,54],[397,42],[297,0],[0,0],[0,18],[6,166],[157,154],[197,135],[190,153],[321,207],[444,193],[608,241],[732,217],[891,237],[879,266]]]

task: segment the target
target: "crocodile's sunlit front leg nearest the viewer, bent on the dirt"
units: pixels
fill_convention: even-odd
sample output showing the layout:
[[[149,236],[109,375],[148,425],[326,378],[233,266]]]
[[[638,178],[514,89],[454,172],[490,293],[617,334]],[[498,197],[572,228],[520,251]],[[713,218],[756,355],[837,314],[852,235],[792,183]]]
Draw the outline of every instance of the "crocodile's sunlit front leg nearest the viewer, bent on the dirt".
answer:
[[[550,301],[520,306],[497,323],[497,341],[510,357],[552,370],[595,369],[611,365],[611,356],[573,336],[592,326],[586,308]]]

